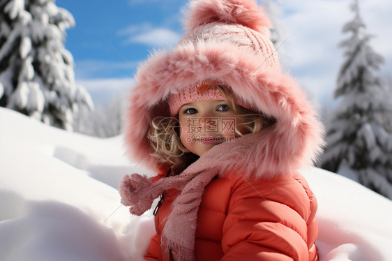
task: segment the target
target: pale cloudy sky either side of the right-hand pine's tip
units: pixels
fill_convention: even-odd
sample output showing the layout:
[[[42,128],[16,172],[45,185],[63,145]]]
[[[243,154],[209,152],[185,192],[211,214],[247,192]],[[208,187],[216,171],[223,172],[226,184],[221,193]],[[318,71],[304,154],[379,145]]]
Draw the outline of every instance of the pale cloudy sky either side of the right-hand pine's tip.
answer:
[[[299,78],[310,96],[315,96],[323,105],[333,98],[336,77],[344,59],[344,50],[338,44],[349,37],[341,30],[353,18],[354,14],[349,10],[351,2],[280,1],[281,19],[289,37],[283,46],[288,57],[287,67],[292,70],[292,75]],[[367,25],[366,33],[377,36],[370,45],[386,60],[383,71],[391,72],[392,2],[363,0],[359,3],[361,16]]]

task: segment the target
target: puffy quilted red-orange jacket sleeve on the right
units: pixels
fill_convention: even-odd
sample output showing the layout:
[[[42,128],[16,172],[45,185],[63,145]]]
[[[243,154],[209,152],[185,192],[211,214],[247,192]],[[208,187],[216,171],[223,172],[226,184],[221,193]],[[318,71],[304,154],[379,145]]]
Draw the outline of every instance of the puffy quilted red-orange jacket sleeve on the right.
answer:
[[[223,225],[222,260],[308,260],[309,199],[293,181],[239,179]]]

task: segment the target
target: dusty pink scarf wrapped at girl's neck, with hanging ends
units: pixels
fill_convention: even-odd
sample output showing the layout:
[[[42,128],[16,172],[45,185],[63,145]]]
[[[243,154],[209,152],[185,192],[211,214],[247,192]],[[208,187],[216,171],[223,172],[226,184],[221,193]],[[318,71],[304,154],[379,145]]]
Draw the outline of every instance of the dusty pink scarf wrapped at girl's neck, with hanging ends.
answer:
[[[195,231],[197,211],[202,201],[204,188],[218,174],[229,169],[243,167],[248,161],[249,149],[256,135],[236,138],[235,142],[219,144],[177,176],[161,178],[156,182],[140,174],[124,177],[119,185],[121,202],[130,207],[130,213],[140,216],[151,208],[163,191],[176,188],[181,194],[172,204],[163,229],[163,240],[167,250],[172,250],[174,260],[195,260]],[[248,154],[248,156],[247,156]]]

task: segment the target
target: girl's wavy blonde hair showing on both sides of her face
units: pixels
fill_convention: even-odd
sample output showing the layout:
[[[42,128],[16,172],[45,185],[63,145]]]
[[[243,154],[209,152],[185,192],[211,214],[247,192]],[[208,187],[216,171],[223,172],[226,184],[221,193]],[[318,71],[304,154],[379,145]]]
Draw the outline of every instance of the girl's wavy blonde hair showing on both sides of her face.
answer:
[[[243,136],[248,133],[257,133],[273,123],[264,114],[259,114],[240,105],[236,105],[232,91],[221,85],[202,85],[197,90],[199,93],[202,93],[211,87],[216,87],[223,97],[225,97],[230,110],[232,110],[236,117],[243,119],[243,123],[238,125],[243,126],[246,131],[241,132],[238,128],[235,128],[237,135]],[[181,143],[179,128],[178,119],[173,117],[155,117],[151,121],[151,128],[147,137],[154,150],[151,155],[158,158],[160,163],[168,163],[172,166],[188,165],[186,161],[190,161],[189,158],[192,158],[187,155],[189,151]],[[195,158],[192,158],[191,161],[194,160]]]

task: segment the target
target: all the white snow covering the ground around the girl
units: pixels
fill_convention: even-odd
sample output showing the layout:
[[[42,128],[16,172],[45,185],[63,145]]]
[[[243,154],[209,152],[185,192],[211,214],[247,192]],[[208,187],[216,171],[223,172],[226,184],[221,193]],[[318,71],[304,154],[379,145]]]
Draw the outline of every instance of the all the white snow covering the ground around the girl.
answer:
[[[124,156],[123,137],[69,133],[4,108],[0,123],[0,260],[142,260],[151,211],[131,216],[116,186],[151,173]],[[390,200],[325,170],[301,172],[319,203],[321,260],[391,259]]]

